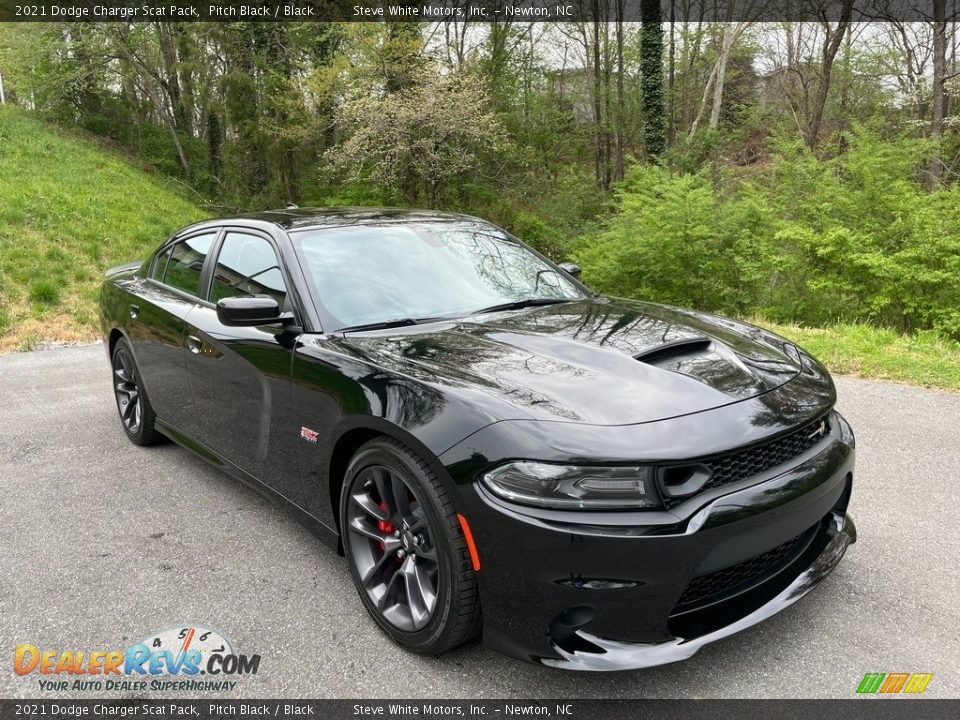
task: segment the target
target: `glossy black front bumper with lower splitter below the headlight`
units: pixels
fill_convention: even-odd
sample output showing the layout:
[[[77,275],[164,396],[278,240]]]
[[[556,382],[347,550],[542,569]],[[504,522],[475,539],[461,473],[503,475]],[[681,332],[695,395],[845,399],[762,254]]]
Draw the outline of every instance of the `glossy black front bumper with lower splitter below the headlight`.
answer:
[[[688,658],[793,604],[856,540],[846,513],[853,435],[832,417],[829,436],[792,467],[659,513],[655,524],[644,512],[518,508],[479,484],[463,487],[461,476],[482,563],[484,643],[551,667],[644,668]],[[482,443],[475,438],[472,450]],[[755,577],[703,602],[684,600],[694,579],[750,567],[782,547],[789,552]]]

